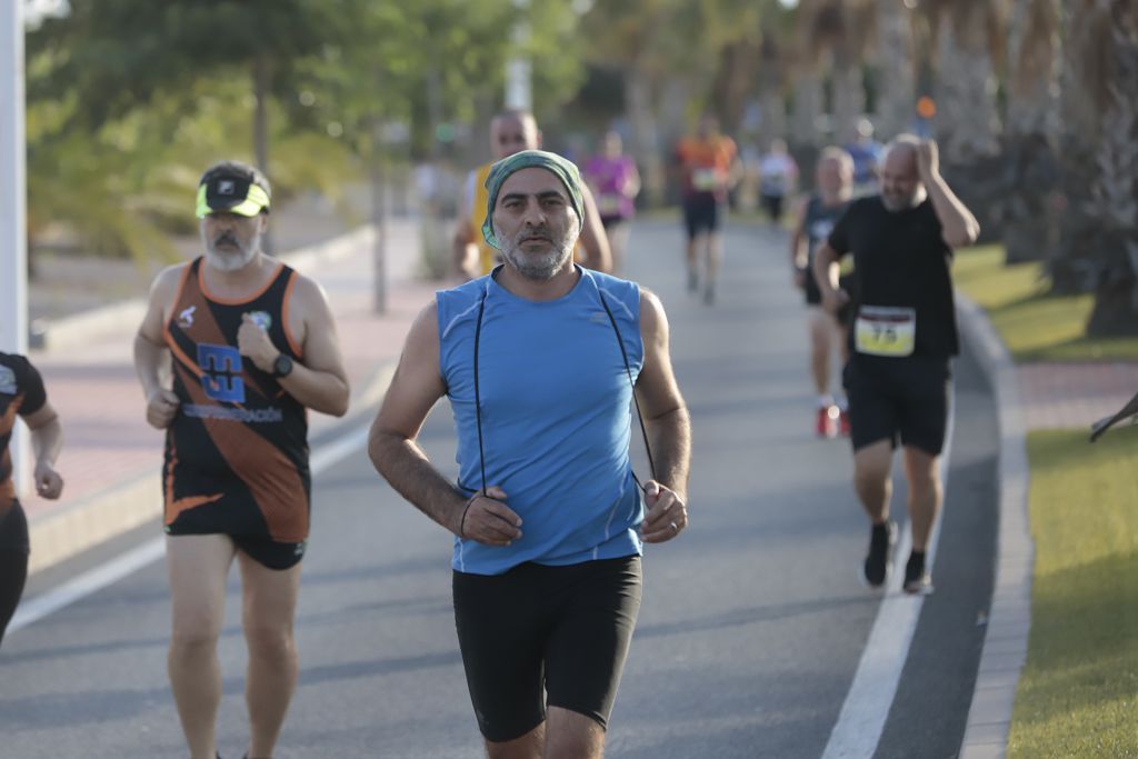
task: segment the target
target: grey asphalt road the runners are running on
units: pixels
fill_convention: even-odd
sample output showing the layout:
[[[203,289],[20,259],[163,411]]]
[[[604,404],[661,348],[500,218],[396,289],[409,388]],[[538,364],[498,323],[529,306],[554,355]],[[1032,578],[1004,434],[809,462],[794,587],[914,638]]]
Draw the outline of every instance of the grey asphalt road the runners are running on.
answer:
[[[648,547],[608,756],[819,757],[881,596],[856,578],[868,528],[848,443],[813,436],[807,332],[784,234],[728,228],[714,306],[684,290],[678,223],[638,224],[627,274],[663,299],[695,443],[691,527]],[[956,756],[982,643],[995,414],[971,360],[955,371],[937,592],[923,601],[912,650],[888,652],[907,658],[879,757]],[[445,404],[422,440],[453,471]],[[898,482],[898,515],[904,494]],[[139,530],[44,572],[25,599],[156,535],[157,526]],[[450,536],[390,490],[362,448],[316,476],[300,684],[279,759],[483,756],[448,559]],[[234,577],[221,643],[226,757],[241,754],[246,735],[238,600]],[[0,651],[0,757],[185,756],[165,675],[168,613],[158,561],[13,634]]]

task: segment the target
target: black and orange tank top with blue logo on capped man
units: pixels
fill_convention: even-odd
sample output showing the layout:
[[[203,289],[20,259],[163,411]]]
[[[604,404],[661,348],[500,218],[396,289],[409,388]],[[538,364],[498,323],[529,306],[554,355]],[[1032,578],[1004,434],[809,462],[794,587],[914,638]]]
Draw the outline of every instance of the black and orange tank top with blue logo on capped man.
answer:
[[[281,264],[259,292],[233,302],[207,292],[201,266],[197,258],[183,271],[165,325],[181,402],[166,434],[166,525],[215,505],[204,512],[216,512],[225,531],[262,531],[259,513],[273,539],[303,541],[311,489],[305,409],[237,347],[250,314],[278,349],[303,358],[288,329],[297,273]]]

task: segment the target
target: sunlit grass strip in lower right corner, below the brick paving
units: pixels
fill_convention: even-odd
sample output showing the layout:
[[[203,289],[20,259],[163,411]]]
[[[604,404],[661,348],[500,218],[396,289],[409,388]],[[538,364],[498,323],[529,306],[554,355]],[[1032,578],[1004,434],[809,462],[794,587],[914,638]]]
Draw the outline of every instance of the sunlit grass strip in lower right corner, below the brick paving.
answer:
[[[1028,436],[1031,636],[1009,758],[1138,757],[1138,429]]]

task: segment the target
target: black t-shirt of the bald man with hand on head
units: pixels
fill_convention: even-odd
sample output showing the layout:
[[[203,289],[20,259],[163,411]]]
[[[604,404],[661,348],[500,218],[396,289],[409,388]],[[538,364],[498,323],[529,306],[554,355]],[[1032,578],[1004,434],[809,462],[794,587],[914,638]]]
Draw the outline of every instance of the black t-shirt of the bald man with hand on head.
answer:
[[[953,249],[941,236],[932,200],[907,211],[888,211],[880,195],[858,198],[839,220],[827,242],[839,256],[853,254],[861,306],[916,311],[913,355],[955,356],[960,350],[949,267]],[[850,348],[855,331],[850,330]]]

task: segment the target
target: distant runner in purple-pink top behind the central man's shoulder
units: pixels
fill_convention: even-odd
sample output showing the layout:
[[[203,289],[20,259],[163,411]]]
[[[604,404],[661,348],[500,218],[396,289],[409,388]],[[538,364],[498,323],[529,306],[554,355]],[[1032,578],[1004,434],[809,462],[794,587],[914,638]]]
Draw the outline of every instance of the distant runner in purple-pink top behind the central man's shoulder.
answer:
[[[628,248],[632,218],[636,213],[634,201],[640,193],[641,179],[636,162],[624,154],[624,143],[616,130],[605,132],[601,151],[585,164],[585,181],[596,198],[601,223],[609,236],[612,272],[619,274]]]

